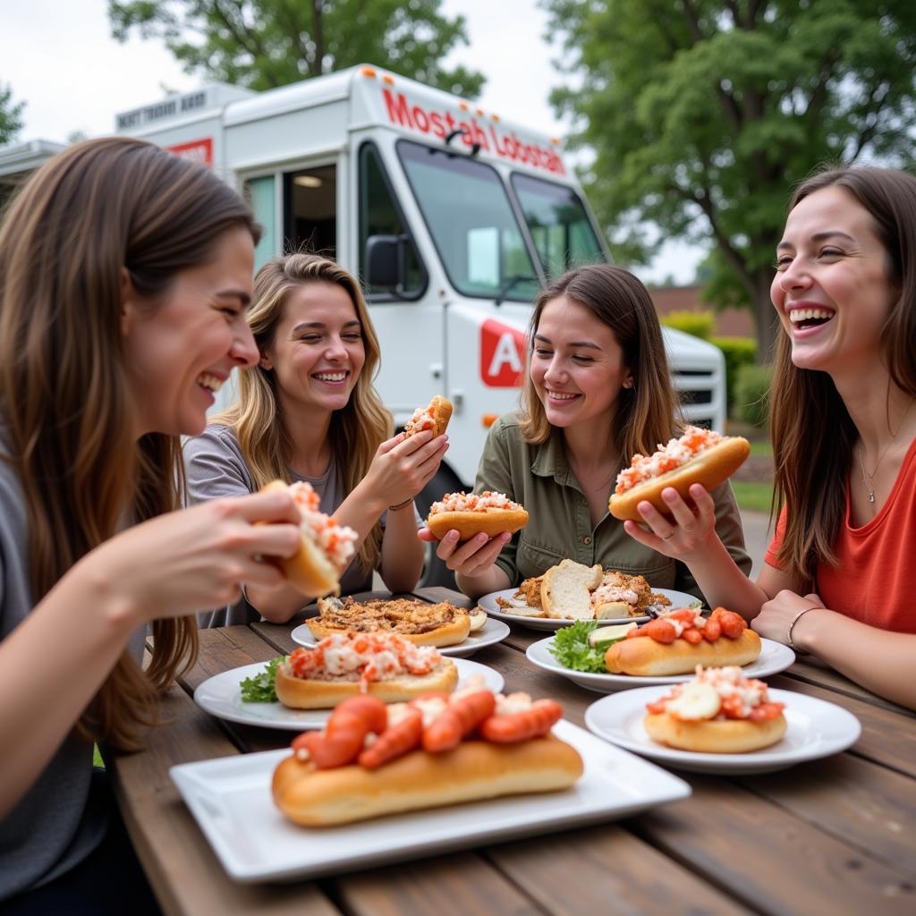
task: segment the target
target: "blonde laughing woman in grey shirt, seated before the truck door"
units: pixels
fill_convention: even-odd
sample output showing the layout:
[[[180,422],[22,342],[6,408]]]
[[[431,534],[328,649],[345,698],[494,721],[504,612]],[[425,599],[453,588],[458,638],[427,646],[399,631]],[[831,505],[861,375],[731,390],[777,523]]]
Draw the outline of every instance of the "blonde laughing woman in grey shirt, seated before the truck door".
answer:
[[[257,272],[248,321],[256,368],[241,376],[238,402],[185,443],[191,499],[308,481],[322,512],[359,536],[342,592],[370,589],[376,569],[390,591],[409,592],[424,556],[413,497],[439,468],[448,437],[392,438],[391,415],[372,385],[378,341],[359,284],[325,257],[278,257]],[[253,584],[202,622],[285,623],[302,605],[291,586]]]

